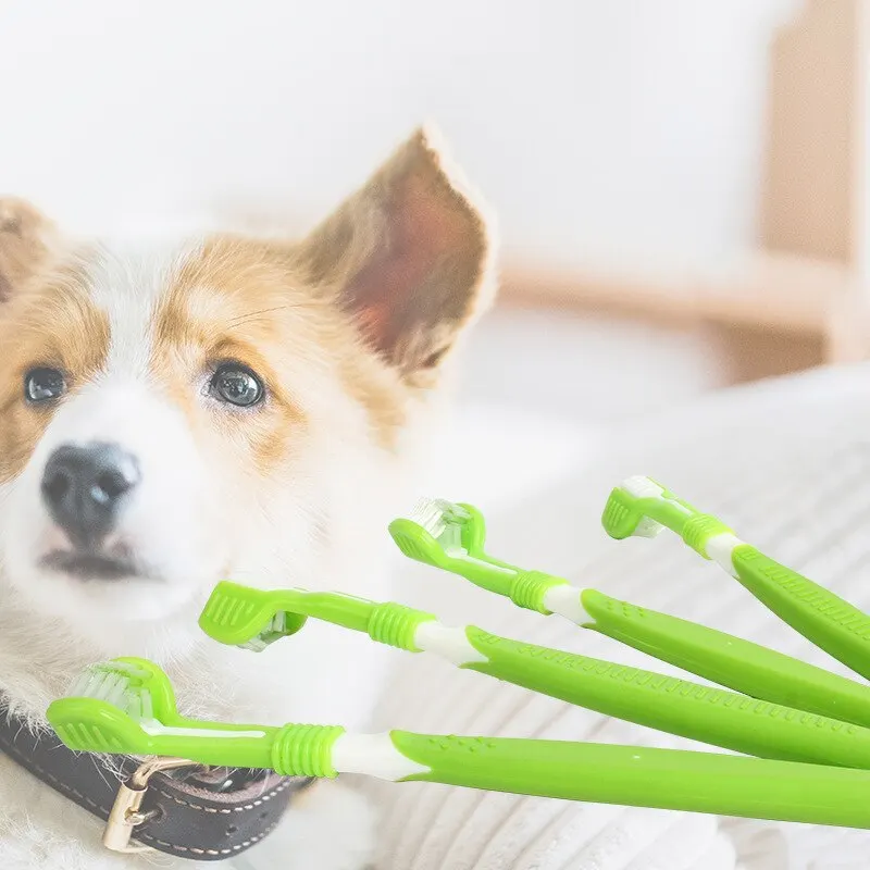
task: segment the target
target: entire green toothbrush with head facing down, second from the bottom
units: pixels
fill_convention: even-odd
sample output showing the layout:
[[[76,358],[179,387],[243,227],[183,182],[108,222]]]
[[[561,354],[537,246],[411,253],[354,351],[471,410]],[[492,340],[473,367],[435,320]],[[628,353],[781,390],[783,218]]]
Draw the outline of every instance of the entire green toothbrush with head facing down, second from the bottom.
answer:
[[[870,730],[733,692],[601,659],[519,643],[474,625],[340,593],[254,589],[219,583],[200,627],[224,644],[261,650],[313,617],[412,652],[607,716],[763,758],[870,769]]]

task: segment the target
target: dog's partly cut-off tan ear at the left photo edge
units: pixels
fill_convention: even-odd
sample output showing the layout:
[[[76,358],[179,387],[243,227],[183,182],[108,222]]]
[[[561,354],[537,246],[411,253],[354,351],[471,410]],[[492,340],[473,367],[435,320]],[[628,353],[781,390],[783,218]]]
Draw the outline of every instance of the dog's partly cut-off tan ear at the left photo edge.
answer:
[[[0,303],[47,259],[53,224],[29,202],[0,197]]]

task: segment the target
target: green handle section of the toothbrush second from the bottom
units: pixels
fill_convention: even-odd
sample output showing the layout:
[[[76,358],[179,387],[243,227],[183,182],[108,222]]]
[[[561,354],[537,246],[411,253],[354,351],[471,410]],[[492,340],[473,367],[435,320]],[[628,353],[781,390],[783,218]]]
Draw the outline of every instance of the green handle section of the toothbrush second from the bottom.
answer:
[[[763,758],[870,769],[870,730],[746,695],[465,629],[470,670],[641,725]]]

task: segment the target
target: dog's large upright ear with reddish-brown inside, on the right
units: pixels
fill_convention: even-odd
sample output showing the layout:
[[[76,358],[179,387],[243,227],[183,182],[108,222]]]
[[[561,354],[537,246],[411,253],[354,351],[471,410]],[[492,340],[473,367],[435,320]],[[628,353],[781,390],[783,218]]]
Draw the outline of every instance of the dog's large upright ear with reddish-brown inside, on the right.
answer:
[[[475,202],[419,129],[301,246],[309,278],[407,376],[436,369],[494,294],[492,228]]]

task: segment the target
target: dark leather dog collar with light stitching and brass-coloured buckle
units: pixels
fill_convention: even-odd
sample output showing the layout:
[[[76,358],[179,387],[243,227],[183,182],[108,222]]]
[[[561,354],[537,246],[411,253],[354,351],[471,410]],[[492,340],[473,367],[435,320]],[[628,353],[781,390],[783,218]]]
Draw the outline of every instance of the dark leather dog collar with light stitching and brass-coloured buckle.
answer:
[[[2,700],[0,699],[0,704]],[[53,731],[0,712],[0,751],[107,822],[115,852],[157,852],[196,861],[240,855],[281,821],[304,776],[203,768],[184,759],[103,758],[67,749]]]

